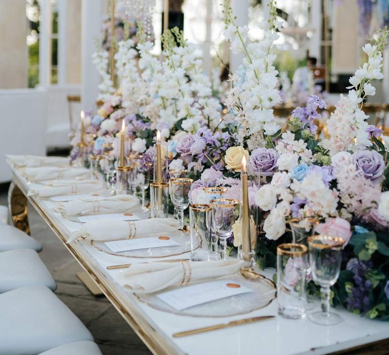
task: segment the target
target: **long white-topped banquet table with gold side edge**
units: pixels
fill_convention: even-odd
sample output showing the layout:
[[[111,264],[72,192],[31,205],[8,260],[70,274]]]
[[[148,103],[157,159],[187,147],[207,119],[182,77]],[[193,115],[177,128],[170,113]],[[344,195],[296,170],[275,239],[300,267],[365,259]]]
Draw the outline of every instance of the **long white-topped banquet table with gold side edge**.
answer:
[[[263,309],[234,317],[191,317],[153,309],[115,283],[114,277],[121,270],[107,270],[106,267],[155,261],[155,259],[108,255],[92,247],[89,241],[74,240],[66,244],[69,234],[79,230],[81,223],[71,222],[53,212],[51,208],[54,202],[52,201],[35,196],[27,197],[30,188],[30,183],[27,183],[20,172],[13,168],[9,203],[14,224],[19,228],[28,229],[26,220],[28,199],[67,250],[95,280],[107,299],[154,354],[325,354],[361,346],[372,349],[373,345],[370,343],[378,341],[381,341],[379,346],[382,346],[382,343],[385,346],[388,344],[387,340],[383,339],[389,338],[389,323],[371,321],[343,309],[336,309],[336,312],[344,321],[333,327],[313,324],[307,318],[290,320],[276,316],[263,322],[173,338],[173,333],[185,330],[228,323],[252,316],[277,315],[277,300]],[[268,269],[264,271],[264,275],[271,278],[274,272],[274,269]]]

